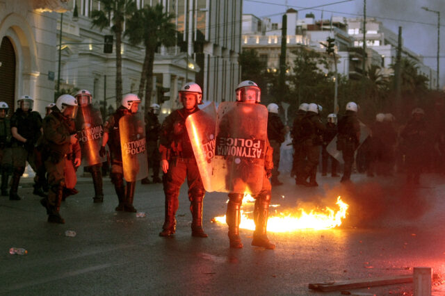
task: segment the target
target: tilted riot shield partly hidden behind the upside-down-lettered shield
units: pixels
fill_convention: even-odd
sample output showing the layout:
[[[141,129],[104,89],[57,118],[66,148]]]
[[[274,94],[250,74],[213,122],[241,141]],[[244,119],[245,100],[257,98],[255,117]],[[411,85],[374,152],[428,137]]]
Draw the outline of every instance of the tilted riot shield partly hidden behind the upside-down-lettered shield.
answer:
[[[215,191],[211,182],[216,135],[215,104],[211,102],[201,110],[188,115],[186,128],[204,188],[209,192]]]

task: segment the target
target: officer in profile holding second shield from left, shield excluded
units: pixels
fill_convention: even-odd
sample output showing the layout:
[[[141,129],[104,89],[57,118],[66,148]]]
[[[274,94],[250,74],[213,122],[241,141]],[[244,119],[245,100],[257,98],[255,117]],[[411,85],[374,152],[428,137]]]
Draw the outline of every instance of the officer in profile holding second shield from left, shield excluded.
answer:
[[[122,98],[121,106],[119,106],[118,110],[108,117],[108,120],[104,123],[104,138],[102,138],[102,147],[100,148],[99,154],[102,157],[106,155],[105,145],[108,142],[108,147],[111,151],[111,182],[114,184],[119,202],[115,211],[131,213],[136,213],[137,211],[133,206],[136,181],[127,182],[127,186],[124,186],[119,120],[124,117],[124,115],[137,113],[139,104],[140,99],[136,94],[126,94]]]

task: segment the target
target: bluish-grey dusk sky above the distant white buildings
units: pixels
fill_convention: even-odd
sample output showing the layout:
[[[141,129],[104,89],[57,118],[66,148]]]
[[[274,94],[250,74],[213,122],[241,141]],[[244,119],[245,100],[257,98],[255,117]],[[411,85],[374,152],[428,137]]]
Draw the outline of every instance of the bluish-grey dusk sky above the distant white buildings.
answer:
[[[270,17],[272,22],[281,22],[282,14],[289,8],[299,11],[299,17],[314,13],[316,19],[330,19],[331,15],[343,17],[362,17],[363,0],[243,0],[243,13],[257,17]],[[323,7],[313,8],[314,6]],[[367,17],[377,17],[384,26],[394,33],[402,26],[405,47],[424,56],[424,63],[432,69],[437,68],[437,14],[421,9],[426,6],[441,13],[441,59],[440,84],[445,78],[445,1],[444,0],[366,0]],[[305,9],[309,8],[309,9]]]

